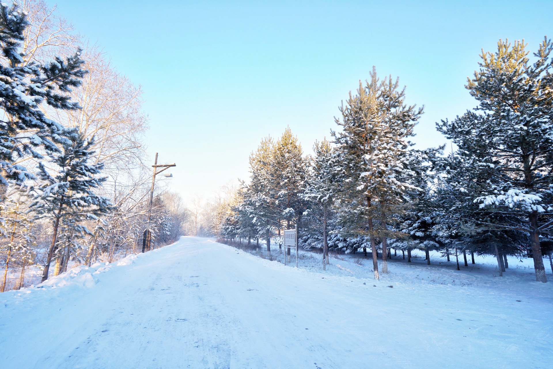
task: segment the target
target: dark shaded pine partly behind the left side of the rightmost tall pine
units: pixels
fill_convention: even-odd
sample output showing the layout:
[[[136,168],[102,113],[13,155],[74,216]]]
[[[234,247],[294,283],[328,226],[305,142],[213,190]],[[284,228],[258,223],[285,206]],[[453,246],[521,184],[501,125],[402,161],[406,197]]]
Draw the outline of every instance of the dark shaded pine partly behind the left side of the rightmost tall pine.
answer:
[[[436,217],[432,233],[438,242],[450,250],[495,255],[499,276],[502,276],[505,254],[521,255],[520,246],[528,237],[520,231],[503,228],[505,215],[494,209],[480,207],[474,199],[482,186],[493,181],[485,158],[487,143],[480,137],[472,139],[472,155],[463,155],[464,148],[446,158],[447,174],[434,189]],[[478,148],[478,149],[476,149]]]

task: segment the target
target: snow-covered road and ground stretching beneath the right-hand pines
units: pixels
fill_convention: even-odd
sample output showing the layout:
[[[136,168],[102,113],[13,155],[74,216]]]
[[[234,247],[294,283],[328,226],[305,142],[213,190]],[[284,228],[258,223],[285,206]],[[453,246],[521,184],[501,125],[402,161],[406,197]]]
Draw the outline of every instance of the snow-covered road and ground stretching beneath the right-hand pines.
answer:
[[[398,255],[375,282],[361,254],[325,272],[185,237],[0,294],[0,368],[553,367],[553,285],[492,261]]]

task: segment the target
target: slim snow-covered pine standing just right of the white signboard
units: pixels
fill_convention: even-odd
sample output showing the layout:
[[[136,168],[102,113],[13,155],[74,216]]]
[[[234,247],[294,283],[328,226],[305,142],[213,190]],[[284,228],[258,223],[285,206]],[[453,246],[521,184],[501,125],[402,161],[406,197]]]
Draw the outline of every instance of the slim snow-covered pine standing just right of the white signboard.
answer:
[[[326,270],[328,261],[328,231],[329,225],[335,221],[336,213],[333,210],[335,186],[336,159],[333,155],[330,142],[326,138],[322,142],[315,142],[315,152],[305,181],[305,199],[309,206],[305,212],[306,225],[310,232],[317,233],[322,240],[322,267]],[[318,238],[318,237],[317,237]]]

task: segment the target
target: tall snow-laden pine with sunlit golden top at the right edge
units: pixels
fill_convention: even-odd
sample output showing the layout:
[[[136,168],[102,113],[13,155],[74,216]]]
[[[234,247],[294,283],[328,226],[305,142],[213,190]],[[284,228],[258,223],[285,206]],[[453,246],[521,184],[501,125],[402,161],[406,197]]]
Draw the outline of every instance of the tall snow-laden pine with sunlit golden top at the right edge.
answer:
[[[504,229],[530,235],[536,280],[545,283],[540,233],[553,228],[553,45],[544,39],[534,64],[525,47],[499,40],[495,53],[482,53],[466,86],[478,106],[437,129],[458,145],[458,155],[478,158],[474,167],[489,172],[474,201],[502,212]]]

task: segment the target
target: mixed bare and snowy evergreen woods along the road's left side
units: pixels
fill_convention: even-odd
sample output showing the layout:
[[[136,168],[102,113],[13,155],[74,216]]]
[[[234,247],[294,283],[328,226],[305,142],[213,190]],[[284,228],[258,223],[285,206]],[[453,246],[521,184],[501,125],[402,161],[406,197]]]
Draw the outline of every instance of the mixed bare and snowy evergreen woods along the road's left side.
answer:
[[[153,158],[140,87],[41,0],[2,12],[0,290],[142,251]],[[208,233],[210,203],[156,180],[150,248]]]

